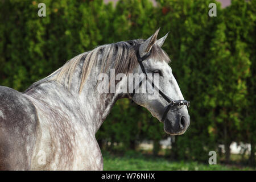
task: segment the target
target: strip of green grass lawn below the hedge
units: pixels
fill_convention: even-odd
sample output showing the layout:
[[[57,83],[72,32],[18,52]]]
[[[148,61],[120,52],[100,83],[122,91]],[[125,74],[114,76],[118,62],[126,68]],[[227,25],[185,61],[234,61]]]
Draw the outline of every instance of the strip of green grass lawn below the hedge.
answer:
[[[222,164],[209,165],[197,162],[171,161],[162,157],[146,155],[111,155],[107,152],[102,153],[104,158],[104,170],[255,170],[251,167],[224,166]]]

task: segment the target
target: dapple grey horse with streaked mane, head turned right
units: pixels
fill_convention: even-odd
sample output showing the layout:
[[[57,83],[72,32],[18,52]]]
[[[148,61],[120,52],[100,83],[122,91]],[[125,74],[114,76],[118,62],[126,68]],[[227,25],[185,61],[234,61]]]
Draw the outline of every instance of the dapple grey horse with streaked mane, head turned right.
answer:
[[[131,98],[161,121],[168,102],[158,94],[98,93],[100,73],[142,73],[137,53],[147,73],[159,74],[159,89],[174,100],[184,100],[168,65],[170,59],[157,40],[157,30],[147,40],[136,39],[99,46],[69,60],[25,92],[0,86],[0,169],[2,170],[102,170],[103,159],[95,134],[120,98]],[[111,79],[110,79],[111,80]],[[122,79],[125,80],[125,79]],[[125,81],[116,84],[118,90]],[[156,91],[153,91],[156,92]],[[183,134],[189,126],[187,106],[174,106],[164,119],[164,131]]]

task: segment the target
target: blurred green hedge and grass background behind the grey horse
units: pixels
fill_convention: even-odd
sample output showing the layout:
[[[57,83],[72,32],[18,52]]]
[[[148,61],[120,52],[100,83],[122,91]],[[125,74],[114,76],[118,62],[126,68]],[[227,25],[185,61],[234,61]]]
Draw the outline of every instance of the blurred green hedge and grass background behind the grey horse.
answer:
[[[119,100],[96,135],[105,170],[255,169],[255,0],[1,0],[0,10],[0,85],[20,92],[98,45],[170,31],[162,48],[191,125],[170,137],[146,109]]]

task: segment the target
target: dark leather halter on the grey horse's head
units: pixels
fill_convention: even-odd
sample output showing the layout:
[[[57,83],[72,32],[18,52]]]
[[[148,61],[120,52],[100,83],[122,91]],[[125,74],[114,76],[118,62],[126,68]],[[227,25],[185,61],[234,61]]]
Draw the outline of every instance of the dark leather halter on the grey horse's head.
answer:
[[[146,80],[150,80],[150,78],[148,78],[148,76],[147,76],[147,73],[146,73],[146,70],[144,68],[144,65],[143,65],[142,61],[146,60],[148,58],[148,56],[150,56],[150,54],[151,54],[151,52],[148,52],[148,53],[146,53],[146,55],[141,57],[139,55],[139,51],[137,51],[137,60],[139,62],[139,65],[141,66],[142,72],[146,75]],[[142,85],[142,81],[139,82],[139,86]],[[150,80],[150,82],[151,82],[152,87],[156,88],[158,90],[158,93],[164,98],[164,100],[166,100],[168,102],[166,110],[164,111],[163,117],[161,119],[162,122],[164,122],[164,119],[166,118],[166,115],[167,115],[168,111],[171,109],[171,107],[173,107],[173,106],[183,106],[183,105],[189,107],[189,101],[186,101],[186,100],[177,100],[177,101],[172,100],[170,97],[166,96],[166,94],[164,94],[157,86],[155,86],[154,82],[152,82],[151,80]],[[135,94],[135,89],[133,90],[133,93],[131,94],[131,98],[133,98],[133,96]]]

